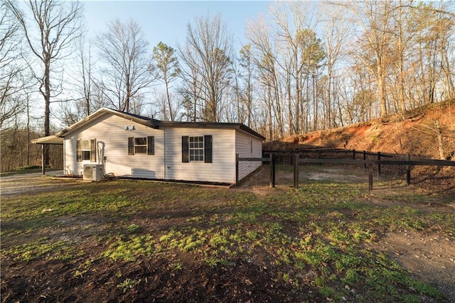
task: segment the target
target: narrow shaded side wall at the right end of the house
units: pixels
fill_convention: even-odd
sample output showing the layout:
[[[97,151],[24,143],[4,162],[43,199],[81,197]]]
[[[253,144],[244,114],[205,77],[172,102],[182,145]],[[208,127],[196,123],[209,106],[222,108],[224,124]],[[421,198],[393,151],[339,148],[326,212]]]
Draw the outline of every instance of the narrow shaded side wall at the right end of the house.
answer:
[[[235,131],[235,153],[239,154],[239,158],[262,158],[262,141],[242,131]],[[239,180],[261,165],[259,161],[239,161]]]

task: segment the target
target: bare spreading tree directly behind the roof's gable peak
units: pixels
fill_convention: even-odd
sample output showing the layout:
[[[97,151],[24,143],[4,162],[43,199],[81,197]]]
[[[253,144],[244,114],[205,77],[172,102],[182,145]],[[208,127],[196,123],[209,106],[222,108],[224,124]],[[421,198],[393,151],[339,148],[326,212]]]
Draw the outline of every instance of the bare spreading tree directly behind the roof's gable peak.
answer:
[[[149,70],[149,43],[140,26],[132,20],[122,23],[115,19],[97,37],[96,45],[102,65],[95,85],[115,109],[134,110],[132,99],[154,81]]]

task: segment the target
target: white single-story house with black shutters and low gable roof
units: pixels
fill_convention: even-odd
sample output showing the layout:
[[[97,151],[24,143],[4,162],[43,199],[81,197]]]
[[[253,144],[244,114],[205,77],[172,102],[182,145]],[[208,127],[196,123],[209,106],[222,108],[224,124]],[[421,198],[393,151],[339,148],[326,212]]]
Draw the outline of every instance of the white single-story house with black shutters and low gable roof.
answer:
[[[263,140],[241,123],[159,121],[103,108],[32,142],[63,144],[65,174],[82,175],[97,165],[118,177],[232,184],[236,154],[262,158]],[[238,180],[260,165],[239,162]]]

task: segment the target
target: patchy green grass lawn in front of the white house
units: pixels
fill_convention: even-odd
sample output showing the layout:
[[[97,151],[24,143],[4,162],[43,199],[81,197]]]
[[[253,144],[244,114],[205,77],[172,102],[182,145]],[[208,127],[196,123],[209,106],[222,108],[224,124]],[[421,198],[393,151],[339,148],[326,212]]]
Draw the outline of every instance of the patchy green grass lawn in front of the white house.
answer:
[[[402,231],[452,241],[455,215],[365,184],[80,182],[2,197],[2,302],[446,302],[375,246]]]

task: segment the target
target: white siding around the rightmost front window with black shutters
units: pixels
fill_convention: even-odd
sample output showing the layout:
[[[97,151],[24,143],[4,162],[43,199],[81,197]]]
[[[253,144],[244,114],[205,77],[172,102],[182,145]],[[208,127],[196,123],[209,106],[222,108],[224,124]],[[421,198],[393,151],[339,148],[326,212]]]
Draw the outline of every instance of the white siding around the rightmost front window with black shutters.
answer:
[[[212,137],[212,162],[182,162],[182,136]],[[166,179],[205,182],[235,182],[235,130],[211,128],[164,129]]]

